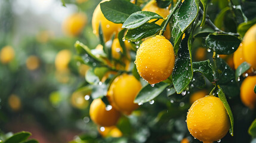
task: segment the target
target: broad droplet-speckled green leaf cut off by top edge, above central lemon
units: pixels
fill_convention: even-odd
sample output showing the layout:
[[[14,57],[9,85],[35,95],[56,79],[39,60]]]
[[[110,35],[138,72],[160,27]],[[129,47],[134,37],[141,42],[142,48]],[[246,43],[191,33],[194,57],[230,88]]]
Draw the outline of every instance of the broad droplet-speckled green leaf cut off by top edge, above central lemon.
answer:
[[[193,23],[199,12],[199,1],[186,0],[182,3],[178,10],[178,25],[181,32],[185,32],[186,29]]]

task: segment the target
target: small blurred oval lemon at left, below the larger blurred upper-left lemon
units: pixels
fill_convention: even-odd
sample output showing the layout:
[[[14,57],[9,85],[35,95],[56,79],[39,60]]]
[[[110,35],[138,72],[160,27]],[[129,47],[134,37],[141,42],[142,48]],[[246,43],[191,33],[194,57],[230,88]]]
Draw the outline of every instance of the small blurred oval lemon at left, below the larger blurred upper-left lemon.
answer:
[[[71,59],[71,52],[68,49],[63,49],[56,55],[55,58],[55,67],[57,70],[66,70],[69,61]]]

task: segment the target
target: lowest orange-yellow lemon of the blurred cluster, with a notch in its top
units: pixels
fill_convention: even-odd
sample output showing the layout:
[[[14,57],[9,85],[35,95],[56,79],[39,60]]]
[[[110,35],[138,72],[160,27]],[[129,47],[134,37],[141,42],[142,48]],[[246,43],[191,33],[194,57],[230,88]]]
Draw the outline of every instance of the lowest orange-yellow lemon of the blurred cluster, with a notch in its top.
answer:
[[[100,126],[113,126],[116,125],[120,117],[120,113],[115,107],[111,110],[106,110],[106,105],[101,99],[95,99],[90,106],[91,120]]]

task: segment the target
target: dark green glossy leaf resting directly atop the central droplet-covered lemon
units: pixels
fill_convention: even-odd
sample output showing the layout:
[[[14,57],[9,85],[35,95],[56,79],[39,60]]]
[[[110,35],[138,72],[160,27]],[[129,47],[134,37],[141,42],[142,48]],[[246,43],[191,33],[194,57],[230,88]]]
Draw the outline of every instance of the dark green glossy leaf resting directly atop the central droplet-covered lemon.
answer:
[[[136,29],[129,29],[125,35],[125,39],[131,42],[140,41],[143,38],[155,35],[162,27],[155,23],[145,23]]]

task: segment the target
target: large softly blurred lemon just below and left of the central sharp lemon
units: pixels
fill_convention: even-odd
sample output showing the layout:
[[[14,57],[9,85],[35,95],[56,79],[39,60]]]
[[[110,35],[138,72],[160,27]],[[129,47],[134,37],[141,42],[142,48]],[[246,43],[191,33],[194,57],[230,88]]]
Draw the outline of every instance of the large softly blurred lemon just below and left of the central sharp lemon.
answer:
[[[113,106],[122,111],[122,113],[129,115],[138,108],[138,104],[134,103],[134,99],[141,88],[141,83],[134,76],[122,74],[112,82],[107,95]]]

